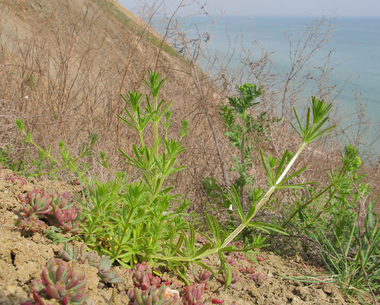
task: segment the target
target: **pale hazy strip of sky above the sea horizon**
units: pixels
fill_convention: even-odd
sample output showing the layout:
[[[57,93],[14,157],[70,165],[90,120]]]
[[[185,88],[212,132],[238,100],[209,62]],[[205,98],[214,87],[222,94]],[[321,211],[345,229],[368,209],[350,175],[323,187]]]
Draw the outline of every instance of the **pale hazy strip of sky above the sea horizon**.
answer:
[[[170,12],[181,0],[117,0],[129,11],[137,13],[136,7],[141,3],[164,3]],[[201,6],[218,15],[241,16],[312,16],[329,15],[332,11],[337,16],[380,16],[380,0],[187,0],[190,3],[179,11],[179,16],[195,14]],[[207,2],[207,3],[206,3]],[[206,3],[206,4],[205,4]],[[171,8],[170,8],[171,7]]]

